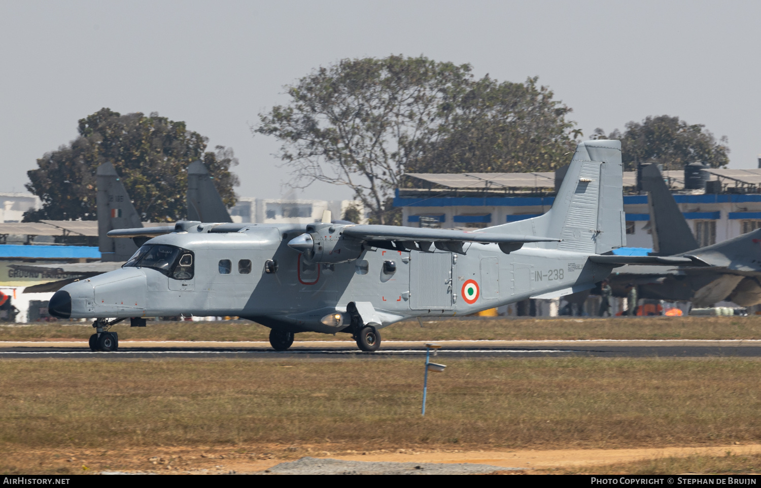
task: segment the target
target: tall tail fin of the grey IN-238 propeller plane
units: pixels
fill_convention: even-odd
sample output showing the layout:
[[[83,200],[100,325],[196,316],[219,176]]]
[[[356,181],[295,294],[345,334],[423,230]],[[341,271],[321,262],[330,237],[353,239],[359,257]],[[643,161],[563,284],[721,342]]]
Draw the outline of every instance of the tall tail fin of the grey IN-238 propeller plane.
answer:
[[[534,246],[602,254],[626,246],[622,186],[621,141],[584,141],[546,214],[484,232],[552,237],[562,241]]]

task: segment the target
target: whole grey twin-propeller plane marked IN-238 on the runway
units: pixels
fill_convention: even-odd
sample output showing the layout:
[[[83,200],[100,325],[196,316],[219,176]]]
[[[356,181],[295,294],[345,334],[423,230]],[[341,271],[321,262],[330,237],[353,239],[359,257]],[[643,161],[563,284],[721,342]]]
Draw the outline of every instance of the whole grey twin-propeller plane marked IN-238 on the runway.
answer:
[[[116,350],[108,329],[126,318],[142,325],[151,316],[238,315],[271,328],[275,350],[288,349],[297,332],[316,331],[352,334],[372,351],[380,328],[407,318],[589,289],[632,260],[603,255],[626,239],[620,147],[578,144],[546,214],[472,232],[337,224],[330,216],[307,226],[180,221],[112,230],[152,239],[123,268],[63,287],[49,312],[96,318],[93,350]]]

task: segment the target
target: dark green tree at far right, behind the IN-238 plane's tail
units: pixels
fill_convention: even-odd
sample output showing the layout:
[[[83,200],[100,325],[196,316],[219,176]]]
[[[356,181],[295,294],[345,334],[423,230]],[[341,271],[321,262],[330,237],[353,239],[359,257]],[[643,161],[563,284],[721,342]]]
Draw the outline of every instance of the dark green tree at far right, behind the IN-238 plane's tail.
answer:
[[[601,128],[593,138],[619,139],[625,171],[636,170],[637,163],[655,162],[664,170],[681,170],[686,164],[700,161],[712,168],[727,166],[727,136],[717,142],[703,124],[688,124],[679,117],[648,116],[640,122],[628,122],[626,132],[618,129],[605,135]]]

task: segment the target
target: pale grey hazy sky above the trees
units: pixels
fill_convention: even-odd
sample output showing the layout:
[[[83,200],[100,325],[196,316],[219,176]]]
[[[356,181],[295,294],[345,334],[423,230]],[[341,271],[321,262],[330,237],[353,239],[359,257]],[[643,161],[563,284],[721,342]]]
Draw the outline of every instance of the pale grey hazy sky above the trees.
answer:
[[[238,195],[279,197],[278,144],[253,138],[282,85],[342,58],[426,55],[477,76],[538,75],[589,135],[648,115],[761,153],[761,2],[10,2],[0,0],[0,192],[101,107],[184,120],[234,148]],[[303,198],[348,198],[314,185]]]

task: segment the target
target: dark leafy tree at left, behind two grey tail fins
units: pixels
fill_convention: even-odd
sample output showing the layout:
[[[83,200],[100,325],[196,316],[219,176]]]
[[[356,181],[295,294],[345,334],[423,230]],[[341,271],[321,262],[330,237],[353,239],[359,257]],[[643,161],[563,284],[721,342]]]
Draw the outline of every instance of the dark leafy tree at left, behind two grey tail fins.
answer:
[[[231,166],[233,150],[217,146],[205,152],[208,138],[187,130],[153,112],[121,115],[103,108],[79,120],[79,136],[68,146],[37,160],[37,170],[27,172],[26,188],[43,201],[39,211],[24,214],[25,222],[95,220],[97,166],[110,161],[122,178],[135,209],[145,220],[156,222],[186,217],[186,167],[202,160],[214,177],[224,203],[235,204],[238,185]]]

